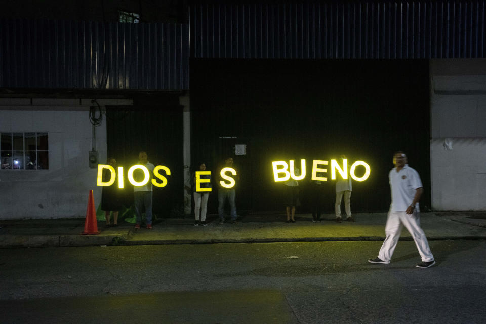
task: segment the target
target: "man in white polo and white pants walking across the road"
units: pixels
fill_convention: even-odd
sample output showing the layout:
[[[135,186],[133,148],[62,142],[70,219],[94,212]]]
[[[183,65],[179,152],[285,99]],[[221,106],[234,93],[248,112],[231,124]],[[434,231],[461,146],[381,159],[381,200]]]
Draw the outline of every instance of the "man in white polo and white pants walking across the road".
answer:
[[[407,164],[407,156],[402,151],[394,154],[395,168],[391,169],[388,178],[391,188],[391,204],[386,220],[386,238],[376,259],[370,263],[389,264],[403,226],[407,228],[415,241],[422,257],[418,268],[428,268],[435,264],[434,257],[424,231],[420,227],[419,200],[424,191],[417,171]]]

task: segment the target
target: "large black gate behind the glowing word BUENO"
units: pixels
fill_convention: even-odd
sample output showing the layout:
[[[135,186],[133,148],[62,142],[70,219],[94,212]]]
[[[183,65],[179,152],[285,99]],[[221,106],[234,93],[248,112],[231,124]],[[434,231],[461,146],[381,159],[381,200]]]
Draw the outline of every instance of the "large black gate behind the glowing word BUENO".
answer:
[[[215,168],[227,151],[221,138],[247,143],[233,155],[242,183],[236,206],[282,211],[282,184],[271,162],[341,154],[371,166],[366,182],[353,182],[353,212],[386,211],[388,172],[396,150],[424,184],[422,208],[430,206],[429,68],[427,60],[191,60],[191,156]],[[226,149],[225,149],[226,150]],[[242,167],[244,165],[244,168]],[[247,174],[250,173],[250,174]],[[330,178],[330,175],[329,175]],[[326,212],[334,210],[335,183],[328,181]],[[216,192],[212,195],[216,196]],[[212,202],[212,203],[211,203]],[[217,202],[208,205],[215,212]],[[299,212],[299,211],[298,211]]]

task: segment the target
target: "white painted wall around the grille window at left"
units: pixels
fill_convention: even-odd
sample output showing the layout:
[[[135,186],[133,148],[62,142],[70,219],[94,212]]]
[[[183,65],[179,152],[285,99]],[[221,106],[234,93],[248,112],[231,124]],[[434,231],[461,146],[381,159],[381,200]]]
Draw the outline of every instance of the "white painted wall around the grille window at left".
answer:
[[[99,205],[97,169],[88,159],[90,105],[88,99],[0,99],[0,132],[49,133],[49,170],[0,170],[0,219],[85,217],[90,190]],[[100,161],[106,160],[103,117],[96,128]]]

